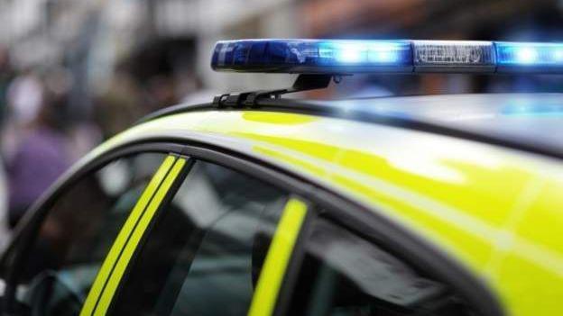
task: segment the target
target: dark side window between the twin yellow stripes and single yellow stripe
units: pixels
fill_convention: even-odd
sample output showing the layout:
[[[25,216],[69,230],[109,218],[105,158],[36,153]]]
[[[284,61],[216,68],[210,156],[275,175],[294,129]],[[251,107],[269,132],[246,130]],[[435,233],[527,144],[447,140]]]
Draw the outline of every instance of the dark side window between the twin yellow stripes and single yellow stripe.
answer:
[[[118,290],[113,315],[244,315],[288,194],[197,161]]]

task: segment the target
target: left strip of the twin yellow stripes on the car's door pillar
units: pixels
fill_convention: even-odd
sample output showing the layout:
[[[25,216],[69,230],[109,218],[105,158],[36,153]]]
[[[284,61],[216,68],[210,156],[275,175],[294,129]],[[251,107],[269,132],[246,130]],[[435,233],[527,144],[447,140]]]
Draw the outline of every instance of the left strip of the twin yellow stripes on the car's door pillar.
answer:
[[[149,201],[151,201],[152,195],[154,195],[162,180],[168,174],[168,171],[172,167],[175,160],[176,158],[174,158],[173,156],[165,158],[162,162],[161,167],[158,168],[154,176],[152,176],[151,181],[144,189],[143,194],[141,194],[141,197],[139,198],[139,201],[137,201],[137,203],[135,204],[133,211],[131,211],[131,214],[125,221],[124,226],[117,234],[114,244],[107,253],[106,259],[100,267],[96,279],[94,280],[94,284],[92,284],[90,292],[86,297],[86,302],[84,302],[84,305],[82,306],[80,316],[89,316],[92,314],[92,311],[94,311],[98,297],[102,292],[104,285],[106,284],[107,277],[111,274],[111,271],[115,265],[115,261],[117,260],[119,253],[121,252],[121,249],[124,248],[127,239],[134,229],[134,225],[137,223],[137,221],[139,221],[139,218],[143,214],[144,209],[146,208]]]

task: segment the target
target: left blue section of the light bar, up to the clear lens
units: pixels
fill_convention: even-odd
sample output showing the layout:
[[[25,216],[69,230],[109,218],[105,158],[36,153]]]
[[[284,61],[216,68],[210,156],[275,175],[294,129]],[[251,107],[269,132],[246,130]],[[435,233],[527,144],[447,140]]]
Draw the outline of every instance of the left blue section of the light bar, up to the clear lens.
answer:
[[[410,41],[219,41],[211,67],[222,71],[411,72]]]

